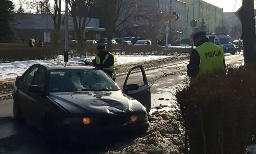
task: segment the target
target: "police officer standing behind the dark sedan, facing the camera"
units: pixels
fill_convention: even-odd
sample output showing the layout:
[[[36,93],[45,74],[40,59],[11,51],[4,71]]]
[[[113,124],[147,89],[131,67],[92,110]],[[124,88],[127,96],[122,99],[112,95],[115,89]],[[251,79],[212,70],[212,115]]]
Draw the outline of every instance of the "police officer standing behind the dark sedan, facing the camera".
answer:
[[[98,43],[97,49],[99,53],[96,55],[95,59],[92,61],[93,65],[101,68],[105,71],[112,80],[116,80],[116,70],[115,70],[115,62],[116,57],[114,54],[111,54],[106,50],[107,43]]]

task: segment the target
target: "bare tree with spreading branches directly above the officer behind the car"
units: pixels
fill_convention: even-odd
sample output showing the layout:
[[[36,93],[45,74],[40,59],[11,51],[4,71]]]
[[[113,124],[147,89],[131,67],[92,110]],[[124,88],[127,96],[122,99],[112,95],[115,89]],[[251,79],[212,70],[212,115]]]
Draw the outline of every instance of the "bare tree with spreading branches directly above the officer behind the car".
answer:
[[[108,50],[111,51],[114,32],[140,16],[143,10],[140,9],[139,0],[96,0],[96,4],[99,6],[99,11],[104,12]]]

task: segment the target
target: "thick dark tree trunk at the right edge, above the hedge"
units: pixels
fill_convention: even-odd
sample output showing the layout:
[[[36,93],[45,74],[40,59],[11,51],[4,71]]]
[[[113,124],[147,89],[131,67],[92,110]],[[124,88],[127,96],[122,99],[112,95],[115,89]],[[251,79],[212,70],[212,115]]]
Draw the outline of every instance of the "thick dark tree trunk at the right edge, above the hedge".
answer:
[[[244,44],[244,62],[256,63],[256,36],[253,0],[243,0],[239,11],[242,23],[242,40]]]

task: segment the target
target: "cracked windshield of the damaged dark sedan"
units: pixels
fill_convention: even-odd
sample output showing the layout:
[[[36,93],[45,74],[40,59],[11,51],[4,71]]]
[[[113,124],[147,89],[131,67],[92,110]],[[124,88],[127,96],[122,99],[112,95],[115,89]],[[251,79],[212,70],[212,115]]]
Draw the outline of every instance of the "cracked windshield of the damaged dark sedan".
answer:
[[[116,91],[119,88],[98,69],[63,69],[49,72],[50,92]]]

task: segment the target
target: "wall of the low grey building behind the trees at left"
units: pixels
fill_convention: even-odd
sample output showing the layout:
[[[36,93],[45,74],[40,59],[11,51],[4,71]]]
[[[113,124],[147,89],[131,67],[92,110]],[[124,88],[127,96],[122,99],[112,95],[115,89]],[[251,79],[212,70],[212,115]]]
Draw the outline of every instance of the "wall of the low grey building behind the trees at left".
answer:
[[[60,36],[59,39],[65,38],[65,16],[61,15]],[[86,27],[99,28],[99,19],[87,18]],[[14,23],[12,24],[17,37],[21,39],[38,38],[38,40],[44,39],[44,32],[47,29],[47,15],[46,14],[23,14],[22,16],[16,16]],[[69,16],[69,39],[76,39],[75,29],[73,24],[73,18]],[[54,25],[53,18],[48,15],[48,33],[50,37],[53,37]],[[88,38],[95,37],[95,33],[90,32],[86,34]],[[52,40],[52,39],[51,39]]]

